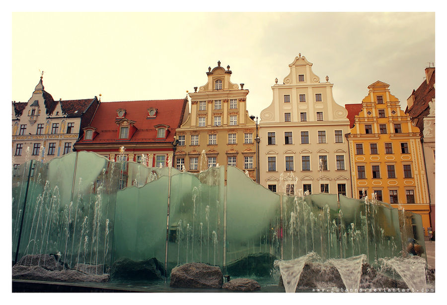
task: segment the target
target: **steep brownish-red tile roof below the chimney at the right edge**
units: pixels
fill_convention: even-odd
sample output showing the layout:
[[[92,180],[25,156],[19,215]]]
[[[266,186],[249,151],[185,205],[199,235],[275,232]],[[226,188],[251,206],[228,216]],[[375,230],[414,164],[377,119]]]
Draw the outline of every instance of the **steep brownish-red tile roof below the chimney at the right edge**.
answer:
[[[428,103],[435,98],[435,70],[433,68],[433,74],[431,75],[429,82],[423,81],[418,89],[413,90],[410,97],[413,96],[414,102],[410,109],[405,109],[405,113],[408,113],[412,120],[415,121],[416,127],[420,130],[420,135],[423,135],[424,132],[424,120],[430,113]]]

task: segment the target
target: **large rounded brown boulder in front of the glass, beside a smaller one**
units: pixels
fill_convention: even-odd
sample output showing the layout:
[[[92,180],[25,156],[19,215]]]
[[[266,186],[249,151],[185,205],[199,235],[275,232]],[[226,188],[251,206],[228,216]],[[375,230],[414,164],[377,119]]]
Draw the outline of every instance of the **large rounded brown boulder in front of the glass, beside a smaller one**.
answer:
[[[171,287],[222,288],[223,283],[221,268],[200,262],[187,263],[171,271]]]

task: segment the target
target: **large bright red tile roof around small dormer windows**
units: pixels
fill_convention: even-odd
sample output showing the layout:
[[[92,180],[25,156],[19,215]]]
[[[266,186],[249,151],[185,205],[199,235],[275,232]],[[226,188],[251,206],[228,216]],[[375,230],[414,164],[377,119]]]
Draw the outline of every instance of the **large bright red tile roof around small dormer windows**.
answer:
[[[135,143],[135,142],[173,142],[175,129],[179,128],[185,107],[186,99],[181,100],[152,100],[152,101],[127,101],[127,102],[101,102],[89,127],[96,128],[98,135],[93,140],[79,140],[79,143]],[[155,118],[148,118],[148,109],[157,108]],[[118,140],[118,125],[115,123],[117,109],[126,109],[125,117],[135,121],[137,131],[129,141]],[[156,141],[156,129],[158,124],[169,125],[169,134],[166,140]]]

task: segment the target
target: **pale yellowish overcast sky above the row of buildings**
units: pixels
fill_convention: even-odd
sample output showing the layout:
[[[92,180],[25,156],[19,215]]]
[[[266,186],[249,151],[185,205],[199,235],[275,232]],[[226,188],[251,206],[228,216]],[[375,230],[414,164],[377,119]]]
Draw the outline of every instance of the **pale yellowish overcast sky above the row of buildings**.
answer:
[[[13,13],[12,100],[28,101],[39,70],[55,100],[181,99],[220,60],[259,116],[298,53],[337,103],[380,80],[405,109],[435,63],[435,13]]]

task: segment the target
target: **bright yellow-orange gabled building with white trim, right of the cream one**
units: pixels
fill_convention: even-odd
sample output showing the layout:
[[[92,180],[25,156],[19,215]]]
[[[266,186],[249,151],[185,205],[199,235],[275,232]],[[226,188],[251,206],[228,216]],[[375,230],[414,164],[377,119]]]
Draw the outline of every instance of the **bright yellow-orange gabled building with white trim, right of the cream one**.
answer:
[[[347,135],[352,176],[352,194],[362,198],[375,193],[377,200],[402,205],[422,216],[430,226],[430,204],[419,128],[412,125],[389,85],[380,81],[369,93]],[[346,105],[348,111],[354,107]]]

